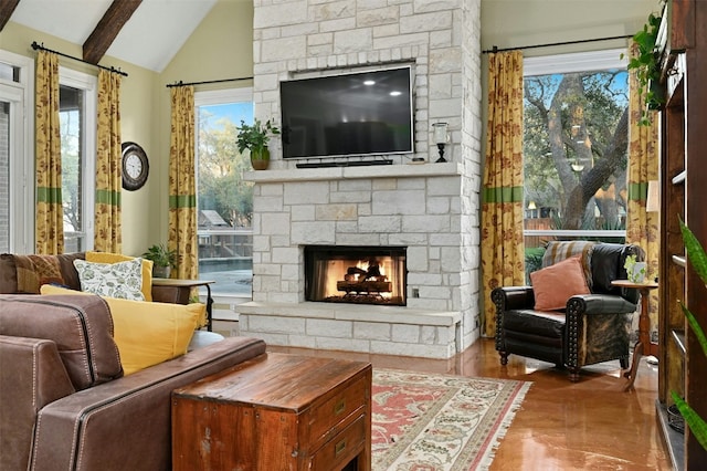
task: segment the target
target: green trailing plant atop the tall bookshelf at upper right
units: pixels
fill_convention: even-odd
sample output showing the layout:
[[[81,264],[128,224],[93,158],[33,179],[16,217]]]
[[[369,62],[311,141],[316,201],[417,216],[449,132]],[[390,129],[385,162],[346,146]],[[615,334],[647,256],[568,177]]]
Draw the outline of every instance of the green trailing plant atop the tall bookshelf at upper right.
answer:
[[[644,97],[647,107],[647,109],[643,111],[639,123],[642,126],[651,124],[648,111],[658,109],[665,103],[665,96],[659,92],[659,87],[652,87],[652,84],[657,85],[661,80],[661,55],[659,51],[656,50],[659,28],[661,17],[651,13],[648,22],[643,25],[643,30],[633,35],[633,42],[637,45],[639,55],[631,57],[627,65],[630,71],[636,71],[639,95]]]

